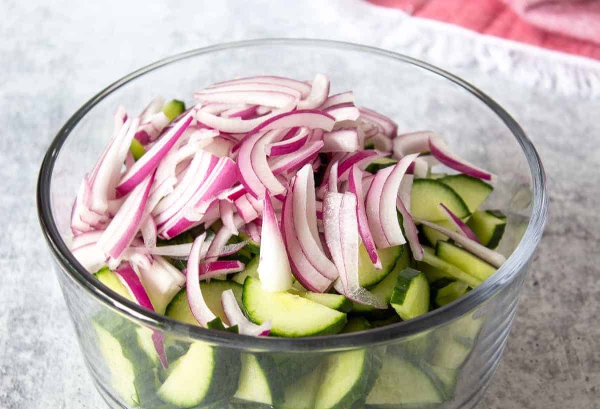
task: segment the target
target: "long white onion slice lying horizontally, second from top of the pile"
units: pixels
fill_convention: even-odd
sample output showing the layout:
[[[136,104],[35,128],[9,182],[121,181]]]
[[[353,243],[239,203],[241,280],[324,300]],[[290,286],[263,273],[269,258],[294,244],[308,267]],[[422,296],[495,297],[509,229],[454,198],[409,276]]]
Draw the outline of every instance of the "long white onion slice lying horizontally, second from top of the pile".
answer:
[[[227,104],[256,104],[269,107],[283,108],[298,100],[292,94],[278,91],[217,91],[205,89],[196,92],[194,98],[203,102],[216,102]]]

